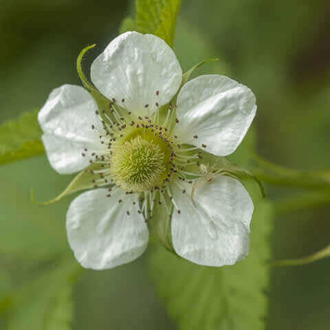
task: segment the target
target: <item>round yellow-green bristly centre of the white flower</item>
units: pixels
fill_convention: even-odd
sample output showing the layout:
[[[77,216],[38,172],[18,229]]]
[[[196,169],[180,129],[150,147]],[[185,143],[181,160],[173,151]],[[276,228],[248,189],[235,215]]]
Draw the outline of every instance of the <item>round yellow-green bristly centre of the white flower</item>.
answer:
[[[137,135],[113,152],[111,175],[115,184],[128,192],[150,190],[166,177],[166,156],[157,138]]]

